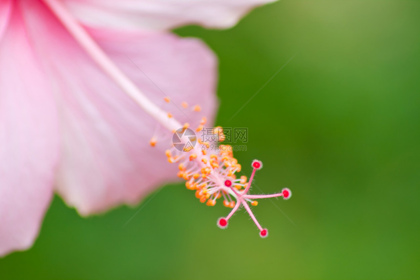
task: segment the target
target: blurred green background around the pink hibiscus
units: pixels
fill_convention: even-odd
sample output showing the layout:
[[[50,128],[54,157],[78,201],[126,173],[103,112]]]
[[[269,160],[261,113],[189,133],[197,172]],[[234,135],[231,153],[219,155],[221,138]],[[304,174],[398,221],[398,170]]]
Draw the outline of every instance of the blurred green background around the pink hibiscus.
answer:
[[[249,128],[243,171],[258,158],[263,192],[293,192],[254,208],[270,237],[243,213],[218,229],[229,209],[182,184],[125,227],[144,204],[85,219],[56,197],[0,279],[420,279],[420,2],[283,0],[176,33],[219,56],[217,125]]]

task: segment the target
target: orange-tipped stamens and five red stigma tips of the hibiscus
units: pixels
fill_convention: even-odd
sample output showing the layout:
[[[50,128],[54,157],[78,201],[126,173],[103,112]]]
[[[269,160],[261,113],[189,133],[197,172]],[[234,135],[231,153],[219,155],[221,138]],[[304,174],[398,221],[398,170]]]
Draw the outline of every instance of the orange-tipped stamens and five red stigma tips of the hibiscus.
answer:
[[[200,126],[203,125],[204,123],[200,124]],[[221,130],[221,128],[218,129],[218,131]],[[223,132],[218,133],[223,134]],[[224,137],[219,137],[219,140],[224,139]],[[209,143],[201,140],[198,140],[198,143],[203,147],[210,146]],[[242,167],[233,157],[230,146],[220,145],[218,149],[220,152],[218,153],[212,150],[204,149],[200,152],[197,152],[197,150],[180,151],[173,147],[166,151],[166,155],[169,162],[179,162],[178,176],[186,180],[187,189],[195,190],[195,196],[201,203],[206,202],[208,206],[214,206],[216,200],[223,197],[223,205],[232,208],[228,216],[220,217],[217,220],[217,226],[221,229],[227,228],[228,220],[240,206],[243,206],[259,229],[260,237],[268,237],[268,230],[262,228],[258,223],[248,203],[257,206],[258,202],[253,200],[256,198],[283,196],[284,199],[289,199],[292,194],[291,191],[285,188],[278,194],[248,194],[255,172],[263,167],[261,161],[256,159],[252,161],[253,170],[248,182],[246,176],[237,178],[236,173],[241,172]]]

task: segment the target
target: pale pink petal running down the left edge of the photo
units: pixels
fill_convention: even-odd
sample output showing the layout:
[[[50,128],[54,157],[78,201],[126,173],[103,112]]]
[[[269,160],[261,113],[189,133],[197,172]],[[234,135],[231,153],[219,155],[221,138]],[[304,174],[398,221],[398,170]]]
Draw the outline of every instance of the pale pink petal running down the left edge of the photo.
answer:
[[[59,151],[55,104],[22,23],[16,9],[0,39],[0,256],[38,235]]]

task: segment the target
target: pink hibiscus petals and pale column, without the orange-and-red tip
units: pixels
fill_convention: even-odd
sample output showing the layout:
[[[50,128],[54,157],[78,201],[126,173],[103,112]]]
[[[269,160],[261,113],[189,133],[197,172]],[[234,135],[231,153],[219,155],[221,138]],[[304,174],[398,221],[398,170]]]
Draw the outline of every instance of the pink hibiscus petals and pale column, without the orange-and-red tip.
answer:
[[[216,58],[167,30],[266,2],[1,0],[0,256],[32,245],[54,191],[90,215],[173,180],[165,131],[214,118]]]

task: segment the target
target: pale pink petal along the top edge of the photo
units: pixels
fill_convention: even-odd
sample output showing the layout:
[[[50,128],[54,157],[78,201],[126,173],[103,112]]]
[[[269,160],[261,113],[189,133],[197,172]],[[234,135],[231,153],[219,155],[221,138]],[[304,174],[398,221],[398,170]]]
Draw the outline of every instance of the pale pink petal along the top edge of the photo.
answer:
[[[252,7],[273,0],[63,0],[84,24],[162,30],[185,24],[227,28]]]

